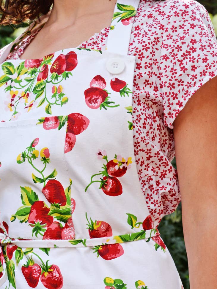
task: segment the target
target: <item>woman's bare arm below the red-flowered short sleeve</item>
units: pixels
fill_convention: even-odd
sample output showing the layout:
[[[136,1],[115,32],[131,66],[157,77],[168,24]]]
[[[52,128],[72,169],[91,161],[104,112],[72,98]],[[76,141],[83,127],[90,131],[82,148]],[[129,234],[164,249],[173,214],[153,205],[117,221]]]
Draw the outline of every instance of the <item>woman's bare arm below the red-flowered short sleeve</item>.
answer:
[[[191,289],[217,286],[217,77],[173,123]]]

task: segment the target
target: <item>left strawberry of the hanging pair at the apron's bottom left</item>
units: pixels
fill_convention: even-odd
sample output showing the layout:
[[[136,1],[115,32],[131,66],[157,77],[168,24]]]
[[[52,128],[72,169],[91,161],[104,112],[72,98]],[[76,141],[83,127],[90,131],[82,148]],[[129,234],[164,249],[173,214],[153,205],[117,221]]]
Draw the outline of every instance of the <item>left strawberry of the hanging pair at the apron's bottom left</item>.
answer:
[[[27,265],[22,266],[21,271],[29,287],[35,288],[38,285],[40,279],[41,267],[38,264],[33,264],[29,266]]]

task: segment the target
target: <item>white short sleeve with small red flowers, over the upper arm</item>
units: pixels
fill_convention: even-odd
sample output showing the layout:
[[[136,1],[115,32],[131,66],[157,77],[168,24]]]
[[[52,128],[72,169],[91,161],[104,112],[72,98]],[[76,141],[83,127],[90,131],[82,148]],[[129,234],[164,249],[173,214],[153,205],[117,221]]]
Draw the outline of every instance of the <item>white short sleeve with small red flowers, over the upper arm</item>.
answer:
[[[164,124],[173,128],[173,121],[191,96],[217,75],[217,42],[209,14],[201,4],[174,0],[167,8],[170,12],[161,45],[160,85]]]

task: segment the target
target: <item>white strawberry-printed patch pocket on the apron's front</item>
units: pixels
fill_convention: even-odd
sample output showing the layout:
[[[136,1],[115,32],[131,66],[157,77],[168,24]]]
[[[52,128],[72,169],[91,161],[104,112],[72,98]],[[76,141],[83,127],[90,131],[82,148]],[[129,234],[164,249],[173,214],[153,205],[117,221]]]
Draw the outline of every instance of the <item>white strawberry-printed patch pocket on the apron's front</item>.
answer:
[[[68,116],[0,123],[0,212],[10,238],[74,239]]]

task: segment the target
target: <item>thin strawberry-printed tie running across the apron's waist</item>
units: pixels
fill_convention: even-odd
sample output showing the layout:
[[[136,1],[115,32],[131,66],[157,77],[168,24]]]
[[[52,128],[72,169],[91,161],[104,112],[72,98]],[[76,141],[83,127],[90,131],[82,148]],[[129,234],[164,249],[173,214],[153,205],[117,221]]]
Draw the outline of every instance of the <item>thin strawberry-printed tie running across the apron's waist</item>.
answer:
[[[7,244],[15,244],[21,248],[65,248],[65,247],[93,247],[107,244],[124,243],[138,240],[148,240],[154,236],[159,236],[158,229],[141,230],[139,232],[108,236],[93,239],[72,239],[72,240],[27,240],[27,239],[11,239],[5,237],[1,240],[1,246]]]

